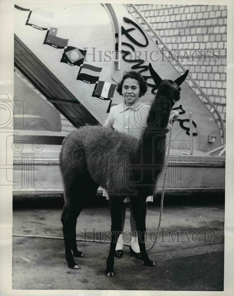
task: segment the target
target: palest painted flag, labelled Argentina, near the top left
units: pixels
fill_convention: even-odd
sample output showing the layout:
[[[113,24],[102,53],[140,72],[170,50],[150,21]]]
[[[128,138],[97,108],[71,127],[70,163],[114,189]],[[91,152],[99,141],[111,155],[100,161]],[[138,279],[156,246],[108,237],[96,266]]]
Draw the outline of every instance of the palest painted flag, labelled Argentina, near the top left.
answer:
[[[47,30],[48,27],[50,27],[50,20],[53,16],[53,13],[41,9],[31,10],[25,25],[29,25],[38,30]]]

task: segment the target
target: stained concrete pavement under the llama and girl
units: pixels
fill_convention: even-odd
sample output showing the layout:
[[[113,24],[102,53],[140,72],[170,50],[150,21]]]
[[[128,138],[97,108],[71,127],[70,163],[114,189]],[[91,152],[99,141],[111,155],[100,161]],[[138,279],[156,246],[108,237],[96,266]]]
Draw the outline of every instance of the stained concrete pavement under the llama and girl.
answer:
[[[28,203],[14,207],[13,234],[62,237],[61,200],[50,203],[54,203],[55,208],[38,204],[32,208]],[[157,229],[159,211],[159,202],[148,204],[148,238]],[[130,230],[129,215],[127,209],[125,231]],[[76,258],[81,269],[72,270],[67,267],[63,240],[13,237],[12,289],[222,291],[223,223],[224,202],[189,203],[186,199],[167,202],[165,197],[159,242],[148,252],[156,267],[144,266],[125,246],[123,257],[115,259],[114,278],[104,274],[109,252],[107,243],[78,242],[78,250],[84,251],[86,257]],[[96,229],[94,235],[91,228]],[[103,239],[109,230],[106,201],[81,212],[78,239],[85,234],[89,234],[88,239]],[[152,242],[147,243],[147,247],[151,245]]]

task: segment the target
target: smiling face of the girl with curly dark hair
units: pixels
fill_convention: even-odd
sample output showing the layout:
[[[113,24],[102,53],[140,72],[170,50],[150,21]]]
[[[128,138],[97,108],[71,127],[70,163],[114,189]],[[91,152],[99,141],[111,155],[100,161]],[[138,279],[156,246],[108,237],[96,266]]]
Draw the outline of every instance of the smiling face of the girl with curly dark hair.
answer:
[[[139,82],[133,78],[126,78],[122,86],[122,94],[127,106],[133,105],[139,98]]]

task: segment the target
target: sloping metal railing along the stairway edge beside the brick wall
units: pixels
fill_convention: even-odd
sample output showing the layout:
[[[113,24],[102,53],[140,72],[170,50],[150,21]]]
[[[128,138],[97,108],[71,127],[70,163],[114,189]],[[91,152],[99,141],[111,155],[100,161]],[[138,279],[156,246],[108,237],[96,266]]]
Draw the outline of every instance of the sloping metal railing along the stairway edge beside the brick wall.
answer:
[[[153,40],[152,37],[156,38],[157,41],[160,42],[160,44],[156,44],[156,46],[158,46],[158,48],[161,50],[161,53],[166,57],[166,59],[169,61],[170,54],[171,54],[171,50],[168,48],[168,46],[164,43],[164,41],[162,40],[162,38],[158,35],[158,33],[154,30],[154,28],[152,27],[152,25],[150,25],[150,23],[147,21],[147,19],[142,15],[142,13],[140,12],[140,10],[136,7],[135,4],[124,4],[124,6],[126,7],[126,9],[128,10],[128,12],[135,18],[135,20],[139,23],[139,21],[136,19],[136,17],[133,15],[133,13],[138,15],[138,18],[141,19],[141,23],[139,23],[146,32],[150,31],[152,33],[152,36],[150,34],[149,37]],[[166,52],[163,50],[166,49]],[[168,57],[165,55],[168,54]],[[171,62],[171,61],[170,61]],[[179,69],[181,69],[181,72],[185,72],[186,69],[184,68],[184,66],[181,64],[181,62],[179,61],[173,61],[171,62],[171,64],[175,67],[175,69],[179,71]],[[197,94],[197,96],[199,97],[199,99],[203,102],[203,104],[207,107],[207,109],[212,113],[212,115],[215,118],[215,121],[217,122],[219,128],[221,129],[222,133],[221,137],[223,138],[223,144],[225,144],[225,125],[223,122],[223,119],[220,115],[220,112],[217,110],[217,107],[215,106],[215,104],[213,104],[213,102],[209,99],[209,97],[207,96],[207,94],[204,93],[204,91],[201,89],[201,87],[197,84],[197,82],[191,77],[191,75],[188,75],[186,79],[188,80],[188,84],[189,86],[193,89],[193,91]],[[215,116],[216,115],[216,116]]]

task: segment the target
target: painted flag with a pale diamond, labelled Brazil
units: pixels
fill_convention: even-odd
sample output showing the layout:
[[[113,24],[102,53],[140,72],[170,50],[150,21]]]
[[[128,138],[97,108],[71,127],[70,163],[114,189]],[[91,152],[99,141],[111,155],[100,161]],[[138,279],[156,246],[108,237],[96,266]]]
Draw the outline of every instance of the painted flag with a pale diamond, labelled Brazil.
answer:
[[[71,66],[80,66],[84,62],[86,52],[86,50],[68,46],[66,49],[64,49],[64,53],[60,62]]]

